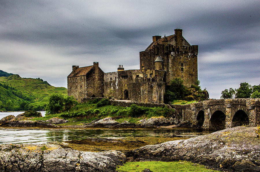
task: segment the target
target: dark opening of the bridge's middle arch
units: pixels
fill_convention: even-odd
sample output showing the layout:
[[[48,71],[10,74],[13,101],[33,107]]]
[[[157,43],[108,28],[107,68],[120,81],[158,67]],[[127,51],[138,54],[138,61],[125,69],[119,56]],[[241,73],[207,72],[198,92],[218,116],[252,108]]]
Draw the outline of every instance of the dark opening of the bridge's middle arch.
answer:
[[[213,130],[223,130],[225,129],[225,124],[226,124],[226,115],[220,111],[217,110],[215,111],[210,120],[209,120],[209,126]]]

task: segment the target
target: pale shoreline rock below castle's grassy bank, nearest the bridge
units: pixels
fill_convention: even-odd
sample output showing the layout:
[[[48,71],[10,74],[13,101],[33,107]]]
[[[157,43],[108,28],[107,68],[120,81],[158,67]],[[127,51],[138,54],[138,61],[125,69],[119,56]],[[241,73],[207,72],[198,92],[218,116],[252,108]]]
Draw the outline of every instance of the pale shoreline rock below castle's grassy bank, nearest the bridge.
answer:
[[[168,126],[172,124],[177,124],[175,118],[164,118],[164,117],[151,117],[148,119],[142,119],[137,124],[135,128],[156,128],[157,126]]]

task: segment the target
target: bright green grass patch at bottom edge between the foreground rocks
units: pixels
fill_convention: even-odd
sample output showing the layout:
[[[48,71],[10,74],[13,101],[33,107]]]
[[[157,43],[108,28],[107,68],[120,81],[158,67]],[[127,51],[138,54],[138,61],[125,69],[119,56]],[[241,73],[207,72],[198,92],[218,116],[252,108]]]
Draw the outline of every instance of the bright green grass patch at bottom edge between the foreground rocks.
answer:
[[[174,162],[162,162],[162,161],[146,161],[146,162],[126,162],[123,166],[118,166],[116,170],[118,172],[141,172],[144,169],[150,169],[153,172],[165,172],[165,171],[191,171],[191,172],[205,172],[217,170],[207,169],[203,165],[194,164],[187,161],[174,161]]]

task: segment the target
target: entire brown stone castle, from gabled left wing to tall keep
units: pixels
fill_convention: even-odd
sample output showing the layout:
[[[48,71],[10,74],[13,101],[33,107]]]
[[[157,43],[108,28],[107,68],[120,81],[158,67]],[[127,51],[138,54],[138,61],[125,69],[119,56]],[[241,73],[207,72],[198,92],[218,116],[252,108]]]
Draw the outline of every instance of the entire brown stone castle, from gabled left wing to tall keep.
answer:
[[[67,77],[68,96],[81,102],[88,97],[104,97],[113,90],[115,99],[134,102],[164,103],[166,85],[181,78],[190,87],[198,80],[198,46],[190,45],[182,29],[174,35],[153,36],[153,42],[140,52],[140,69],[104,73],[98,62],[92,66],[72,66]]]

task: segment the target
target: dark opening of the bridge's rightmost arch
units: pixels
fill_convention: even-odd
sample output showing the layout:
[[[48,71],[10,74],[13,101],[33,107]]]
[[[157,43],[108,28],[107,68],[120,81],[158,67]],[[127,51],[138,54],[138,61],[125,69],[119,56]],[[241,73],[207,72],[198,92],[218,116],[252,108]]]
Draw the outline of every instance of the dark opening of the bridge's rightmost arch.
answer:
[[[246,115],[246,112],[243,110],[238,110],[232,119],[231,127],[248,125],[248,124],[249,124],[249,119],[248,116]]]

